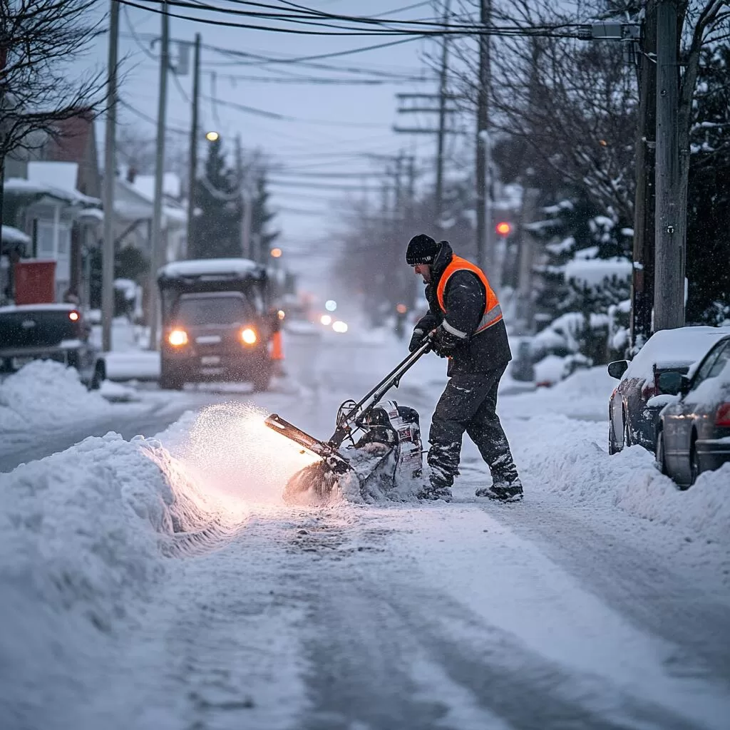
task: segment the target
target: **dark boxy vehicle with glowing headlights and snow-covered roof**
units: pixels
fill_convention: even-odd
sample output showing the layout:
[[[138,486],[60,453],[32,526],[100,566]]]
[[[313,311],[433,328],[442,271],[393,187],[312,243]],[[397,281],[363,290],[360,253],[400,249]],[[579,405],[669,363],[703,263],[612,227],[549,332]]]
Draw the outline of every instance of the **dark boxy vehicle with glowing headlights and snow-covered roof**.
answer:
[[[178,261],[161,269],[161,388],[235,380],[265,391],[272,377],[266,272],[245,259]]]

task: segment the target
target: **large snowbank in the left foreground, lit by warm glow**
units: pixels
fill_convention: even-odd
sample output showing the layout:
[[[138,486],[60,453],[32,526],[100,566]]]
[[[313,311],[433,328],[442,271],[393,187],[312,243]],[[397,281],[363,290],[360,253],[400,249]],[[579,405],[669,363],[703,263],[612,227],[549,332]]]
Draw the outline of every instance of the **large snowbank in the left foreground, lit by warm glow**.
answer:
[[[56,707],[69,716],[53,727],[107,726],[84,723],[95,687],[177,569],[165,556],[215,545],[244,512],[222,510],[155,439],[111,433],[0,475],[0,493],[0,715],[49,727]]]

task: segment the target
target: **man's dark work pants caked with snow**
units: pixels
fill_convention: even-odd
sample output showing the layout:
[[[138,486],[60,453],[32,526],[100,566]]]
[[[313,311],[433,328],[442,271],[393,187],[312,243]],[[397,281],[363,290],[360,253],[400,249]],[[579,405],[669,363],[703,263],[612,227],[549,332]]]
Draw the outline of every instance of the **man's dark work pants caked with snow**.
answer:
[[[450,378],[437,403],[429,432],[431,484],[450,487],[458,471],[464,431],[477,445],[494,482],[512,481],[517,467],[496,415],[497,387],[507,365]]]

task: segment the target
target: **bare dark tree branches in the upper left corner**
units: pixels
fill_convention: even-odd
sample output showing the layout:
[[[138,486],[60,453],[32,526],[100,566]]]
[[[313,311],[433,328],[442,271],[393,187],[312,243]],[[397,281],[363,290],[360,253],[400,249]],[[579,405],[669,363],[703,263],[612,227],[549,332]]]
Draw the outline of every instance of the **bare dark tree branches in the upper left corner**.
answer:
[[[70,77],[67,66],[102,32],[91,19],[95,5],[0,0],[0,183],[9,153],[38,147],[40,139],[57,134],[55,123],[104,103],[103,74]]]

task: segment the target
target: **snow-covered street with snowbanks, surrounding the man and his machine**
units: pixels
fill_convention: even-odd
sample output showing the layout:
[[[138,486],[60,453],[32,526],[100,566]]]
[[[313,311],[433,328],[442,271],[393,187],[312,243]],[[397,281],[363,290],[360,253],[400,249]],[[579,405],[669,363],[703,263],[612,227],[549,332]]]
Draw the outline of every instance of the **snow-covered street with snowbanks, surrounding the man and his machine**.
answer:
[[[2,726],[727,728],[730,469],[607,456],[600,372],[503,397],[521,504],[473,496],[471,444],[450,504],[281,503],[305,457],[261,414],[328,437],[400,356],[292,338],[278,393],[0,475]],[[426,432],[443,366],[396,391]]]

